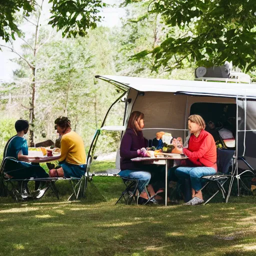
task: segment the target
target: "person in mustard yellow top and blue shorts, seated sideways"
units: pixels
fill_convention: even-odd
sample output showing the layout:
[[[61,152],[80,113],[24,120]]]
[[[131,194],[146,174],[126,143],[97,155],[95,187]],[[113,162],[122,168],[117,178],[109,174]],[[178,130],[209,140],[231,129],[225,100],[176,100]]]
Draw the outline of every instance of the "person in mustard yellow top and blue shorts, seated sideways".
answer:
[[[71,129],[70,120],[60,116],[55,121],[55,129],[61,135],[60,168],[50,169],[50,177],[81,177],[86,170],[86,154],[82,138]]]

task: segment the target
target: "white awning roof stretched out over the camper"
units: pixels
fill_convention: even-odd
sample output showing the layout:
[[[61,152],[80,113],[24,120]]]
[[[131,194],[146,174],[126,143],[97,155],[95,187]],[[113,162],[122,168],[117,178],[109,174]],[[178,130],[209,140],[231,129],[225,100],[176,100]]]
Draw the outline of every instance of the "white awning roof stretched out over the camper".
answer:
[[[256,98],[255,84],[227,83],[195,80],[170,80],[118,75],[95,75],[115,86],[127,90],[174,92],[188,95],[216,95],[224,97],[246,96]],[[217,78],[216,78],[217,79]]]

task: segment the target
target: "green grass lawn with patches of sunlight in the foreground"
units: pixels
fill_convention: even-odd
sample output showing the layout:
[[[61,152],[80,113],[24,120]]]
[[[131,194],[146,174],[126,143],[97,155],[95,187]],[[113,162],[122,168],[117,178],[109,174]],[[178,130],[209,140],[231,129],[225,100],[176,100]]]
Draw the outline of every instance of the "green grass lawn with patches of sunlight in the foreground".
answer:
[[[118,177],[93,177],[86,198],[0,198],[0,255],[255,255],[255,197],[228,203],[114,205]],[[66,193],[65,193],[66,192]]]

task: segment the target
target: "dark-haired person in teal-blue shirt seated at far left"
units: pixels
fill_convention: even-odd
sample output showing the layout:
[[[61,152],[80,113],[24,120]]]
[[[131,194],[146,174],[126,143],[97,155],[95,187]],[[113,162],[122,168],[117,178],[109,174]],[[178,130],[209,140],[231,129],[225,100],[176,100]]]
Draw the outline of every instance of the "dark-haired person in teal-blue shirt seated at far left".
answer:
[[[28,131],[28,127],[29,125],[27,120],[20,119],[15,122],[15,130],[17,134],[8,140],[3,152],[3,158],[13,158],[6,160],[4,172],[13,179],[49,177],[49,175],[39,164],[31,164],[28,162],[28,146],[26,139],[23,138],[23,136]],[[41,186],[44,185],[44,183],[45,182],[41,182]],[[35,190],[39,188],[39,185],[40,182],[35,181]],[[45,188],[41,189],[41,191],[38,190],[37,196],[41,197],[44,194],[45,190]]]

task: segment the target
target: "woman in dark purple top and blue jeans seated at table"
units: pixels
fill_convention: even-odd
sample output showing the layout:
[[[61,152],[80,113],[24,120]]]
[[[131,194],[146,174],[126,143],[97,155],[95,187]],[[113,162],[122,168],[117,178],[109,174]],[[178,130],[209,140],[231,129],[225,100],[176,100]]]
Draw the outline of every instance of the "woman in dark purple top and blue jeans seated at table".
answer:
[[[118,173],[121,177],[138,179],[139,201],[143,203],[148,199],[145,186],[151,179],[150,166],[142,162],[133,162],[131,158],[139,156],[150,156],[145,147],[147,139],[143,137],[142,128],[144,127],[144,114],[133,111],[130,115],[127,129],[122,137],[120,145],[120,168]],[[151,188],[152,191],[152,188]],[[143,198],[143,199],[142,199]]]

